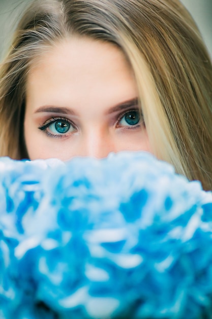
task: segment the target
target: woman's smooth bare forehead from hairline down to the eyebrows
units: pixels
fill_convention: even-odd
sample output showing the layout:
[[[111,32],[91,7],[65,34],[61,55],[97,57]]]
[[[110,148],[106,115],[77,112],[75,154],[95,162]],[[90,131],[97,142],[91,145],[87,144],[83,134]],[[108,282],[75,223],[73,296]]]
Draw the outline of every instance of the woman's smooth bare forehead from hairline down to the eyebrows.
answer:
[[[102,103],[103,97],[118,99],[120,94],[126,100],[135,95],[134,74],[123,52],[89,38],[68,38],[49,47],[34,61],[26,81],[26,100],[40,103],[51,97],[88,103],[94,96]]]

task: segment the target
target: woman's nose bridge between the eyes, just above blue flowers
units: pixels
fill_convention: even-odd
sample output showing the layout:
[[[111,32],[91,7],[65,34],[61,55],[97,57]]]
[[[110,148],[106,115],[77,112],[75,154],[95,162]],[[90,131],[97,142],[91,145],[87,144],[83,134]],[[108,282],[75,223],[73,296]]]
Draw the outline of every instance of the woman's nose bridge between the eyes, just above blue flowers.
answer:
[[[103,158],[115,151],[114,139],[109,130],[100,129],[98,126],[86,132],[83,144],[85,156]]]

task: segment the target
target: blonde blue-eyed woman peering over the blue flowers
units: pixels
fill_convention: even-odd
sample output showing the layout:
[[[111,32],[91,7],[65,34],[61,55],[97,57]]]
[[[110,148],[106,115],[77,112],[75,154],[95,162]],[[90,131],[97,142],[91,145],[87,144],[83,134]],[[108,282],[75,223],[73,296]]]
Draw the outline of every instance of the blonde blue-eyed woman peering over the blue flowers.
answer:
[[[212,67],[176,0],[37,0],[1,69],[1,155],[146,150],[212,188]]]

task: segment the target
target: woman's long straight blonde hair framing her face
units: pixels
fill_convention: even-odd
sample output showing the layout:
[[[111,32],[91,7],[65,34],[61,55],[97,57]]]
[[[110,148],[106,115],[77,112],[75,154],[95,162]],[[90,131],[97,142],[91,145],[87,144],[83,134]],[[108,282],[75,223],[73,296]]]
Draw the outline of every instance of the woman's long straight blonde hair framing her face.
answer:
[[[36,0],[0,74],[0,155],[27,156],[25,82],[33,61],[70,35],[118,46],[135,74],[150,145],[178,173],[212,189],[212,67],[177,0]]]

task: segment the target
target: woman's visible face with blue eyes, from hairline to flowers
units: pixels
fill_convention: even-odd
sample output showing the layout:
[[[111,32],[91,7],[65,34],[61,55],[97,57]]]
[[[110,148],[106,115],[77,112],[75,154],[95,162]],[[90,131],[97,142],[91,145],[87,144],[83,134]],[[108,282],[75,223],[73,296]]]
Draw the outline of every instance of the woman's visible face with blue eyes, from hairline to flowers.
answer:
[[[24,137],[30,159],[150,151],[133,73],[117,47],[71,38],[31,68]]]

